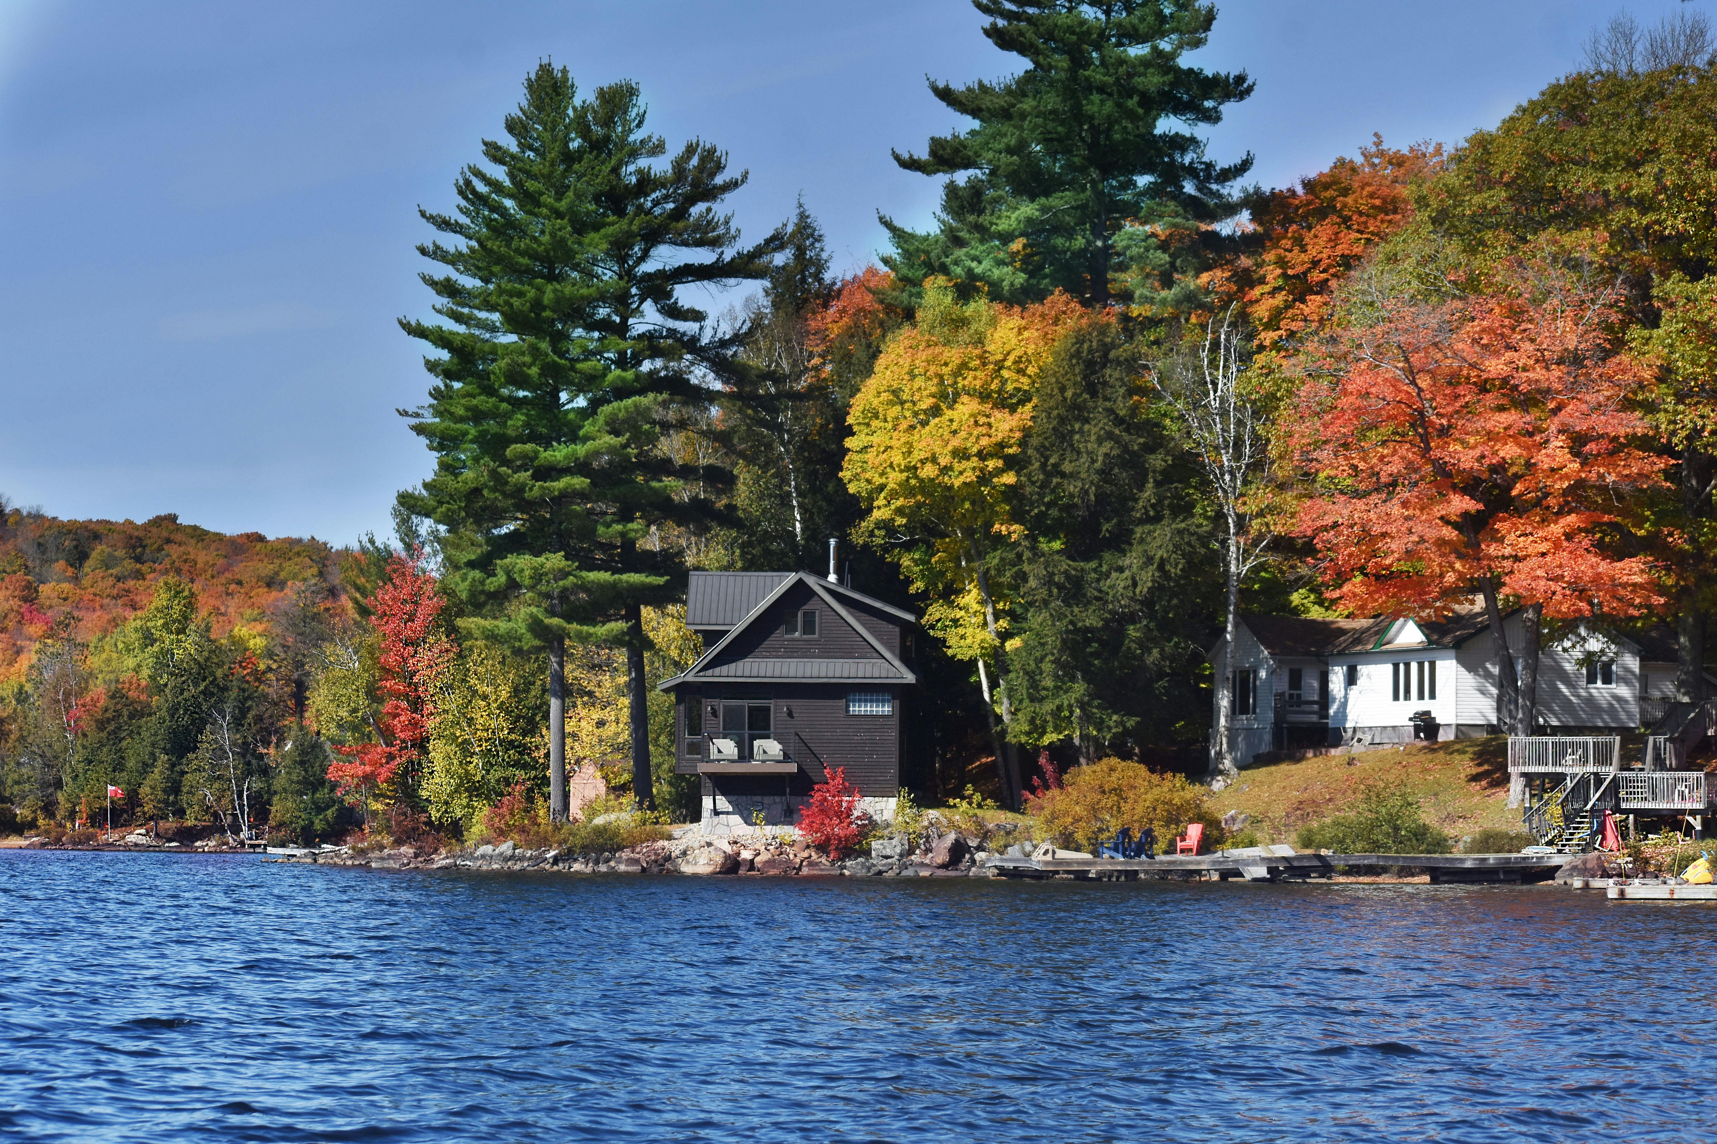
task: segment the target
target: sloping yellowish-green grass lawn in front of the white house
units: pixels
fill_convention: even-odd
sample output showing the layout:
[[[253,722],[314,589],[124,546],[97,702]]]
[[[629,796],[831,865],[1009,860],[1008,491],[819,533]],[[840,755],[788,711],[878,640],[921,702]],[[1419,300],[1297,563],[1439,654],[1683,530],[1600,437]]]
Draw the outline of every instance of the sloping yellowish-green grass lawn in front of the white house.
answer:
[[[1260,844],[1293,842],[1305,823],[1353,810],[1374,782],[1411,791],[1425,822],[1456,846],[1485,827],[1521,828],[1520,811],[1508,808],[1508,736],[1248,767],[1212,801],[1219,813],[1250,815],[1243,830]]]

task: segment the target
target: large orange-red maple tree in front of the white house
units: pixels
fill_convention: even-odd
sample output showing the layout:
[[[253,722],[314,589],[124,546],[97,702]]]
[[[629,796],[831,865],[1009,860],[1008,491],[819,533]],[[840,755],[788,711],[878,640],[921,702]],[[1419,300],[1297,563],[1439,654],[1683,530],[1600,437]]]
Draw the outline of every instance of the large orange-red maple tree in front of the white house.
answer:
[[[1540,280],[1542,285],[1542,280]],[[1499,722],[1530,722],[1499,600],[1528,619],[1660,604],[1652,561],[1617,552],[1621,506],[1662,480],[1629,408],[1643,377],[1614,353],[1605,298],[1573,288],[1442,305],[1392,300],[1307,382],[1289,444],[1315,479],[1298,532],[1355,614],[1447,614],[1482,597]]]

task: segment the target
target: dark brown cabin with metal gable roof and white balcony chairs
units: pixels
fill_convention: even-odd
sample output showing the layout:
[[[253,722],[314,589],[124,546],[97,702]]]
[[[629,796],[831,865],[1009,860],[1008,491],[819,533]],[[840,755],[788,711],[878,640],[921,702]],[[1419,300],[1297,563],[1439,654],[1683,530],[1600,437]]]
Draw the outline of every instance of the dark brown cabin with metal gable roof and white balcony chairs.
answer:
[[[810,573],[692,573],[685,623],[704,655],[661,689],[707,834],[793,823],[836,767],[893,816],[915,616]]]

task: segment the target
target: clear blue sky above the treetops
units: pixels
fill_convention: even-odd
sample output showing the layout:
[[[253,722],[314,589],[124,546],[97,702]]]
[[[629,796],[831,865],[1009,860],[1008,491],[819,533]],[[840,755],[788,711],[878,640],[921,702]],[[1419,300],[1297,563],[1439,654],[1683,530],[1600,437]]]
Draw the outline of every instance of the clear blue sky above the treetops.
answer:
[[[1210,134],[1283,185],[1391,142],[1459,141],[1580,58],[1595,24],[1676,0],[1226,0],[1207,67],[1257,94]],[[428,292],[419,204],[452,206],[543,57],[639,81],[670,146],[793,199],[840,269],[877,209],[925,223],[889,148],[958,123],[924,86],[1011,70],[965,0],[630,3],[0,0],[0,492],[57,516],[223,532],[388,532],[431,468],[395,408],[426,391],[398,331]],[[719,302],[725,305],[725,302]]]

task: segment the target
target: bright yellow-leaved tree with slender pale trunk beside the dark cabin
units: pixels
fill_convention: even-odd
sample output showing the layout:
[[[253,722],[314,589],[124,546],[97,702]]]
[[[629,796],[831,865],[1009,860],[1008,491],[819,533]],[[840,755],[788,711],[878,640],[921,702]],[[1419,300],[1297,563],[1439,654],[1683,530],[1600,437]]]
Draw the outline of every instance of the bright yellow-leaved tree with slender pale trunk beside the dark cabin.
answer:
[[[994,552],[1023,535],[1008,491],[1037,377],[1085,316],[1063,293],[1028,307],[962,304],[950,281],[931,280],[917,321],[883,350],[848,412],[841,477],[869,513],[860,537],[900,561],[912,588],[931,597],[925,624],[977,664],[1011,806],[1018,767],[994,715],[999,707],[1003,726],[1013,719],[1008,593],[992,575]]]

